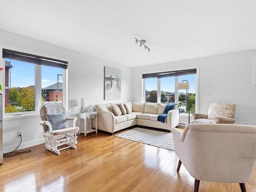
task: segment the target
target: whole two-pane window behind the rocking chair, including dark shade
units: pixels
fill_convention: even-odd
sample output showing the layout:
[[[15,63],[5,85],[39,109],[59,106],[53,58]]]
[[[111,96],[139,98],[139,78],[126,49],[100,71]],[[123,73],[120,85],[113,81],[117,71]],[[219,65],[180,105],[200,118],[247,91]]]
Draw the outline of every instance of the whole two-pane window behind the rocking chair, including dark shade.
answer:
[[[39,111],[42,102],[65,96],[67,62],[3,49],[5,59],[5,114]]]

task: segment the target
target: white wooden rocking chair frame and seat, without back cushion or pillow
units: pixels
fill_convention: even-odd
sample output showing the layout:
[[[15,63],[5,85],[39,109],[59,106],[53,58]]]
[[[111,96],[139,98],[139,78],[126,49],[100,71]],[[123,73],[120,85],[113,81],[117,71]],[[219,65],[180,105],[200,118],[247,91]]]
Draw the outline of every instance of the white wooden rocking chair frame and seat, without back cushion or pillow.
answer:
[[[66,111],[62,105],[60,105],[60,108],[62,112]],[[73,147],[76,149],[76,144],[77,144],[76,133],[79,131],[79,127],[76,127],[77,117],[66,118],[67,121],[73,121],[73,124],[72,124],[73,126],[64,128],[64,129],[59,129],[59,130],[52,130],[51,123],[47,121],[45,105],[41,106],[40,117],[42,120],[40,122],[40,125],[42,125],[42,129],[44,131],[42,135],[46,139],[45,148],[47,150],[50,150],[60,155],[60,151],[65,150],[66,148]],[[64,147],[58,148],[62,145],[64,145]]]

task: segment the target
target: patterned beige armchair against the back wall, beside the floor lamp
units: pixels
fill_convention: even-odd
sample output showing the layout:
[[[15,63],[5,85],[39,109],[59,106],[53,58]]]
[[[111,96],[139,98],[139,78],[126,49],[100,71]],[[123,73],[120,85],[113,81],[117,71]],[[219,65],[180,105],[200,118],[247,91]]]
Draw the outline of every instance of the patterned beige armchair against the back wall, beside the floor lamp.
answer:
[[[208,114],[193,114],[191,124],[234,124],[234,112],[236,104],[225,102],[213,102],[210,104]]]

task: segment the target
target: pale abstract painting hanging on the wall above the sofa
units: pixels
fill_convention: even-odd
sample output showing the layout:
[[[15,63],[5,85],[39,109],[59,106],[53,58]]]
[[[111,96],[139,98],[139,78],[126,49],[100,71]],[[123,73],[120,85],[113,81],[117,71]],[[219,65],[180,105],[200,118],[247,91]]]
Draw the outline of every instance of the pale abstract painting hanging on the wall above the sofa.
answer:
[[[121,70],[105,67],[104,99],[121,99]]]

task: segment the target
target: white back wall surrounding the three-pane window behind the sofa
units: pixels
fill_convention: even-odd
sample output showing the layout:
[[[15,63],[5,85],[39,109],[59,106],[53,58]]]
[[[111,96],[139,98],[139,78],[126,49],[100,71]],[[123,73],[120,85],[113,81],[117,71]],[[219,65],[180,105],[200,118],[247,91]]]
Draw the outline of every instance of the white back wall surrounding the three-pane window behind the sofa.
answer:
[[[214,101],[236,103],[236,123],[256,125],[254,59],[256,50],[133,68],[133,101],[142,100],[142,73],[199,67],[199,112]]]

